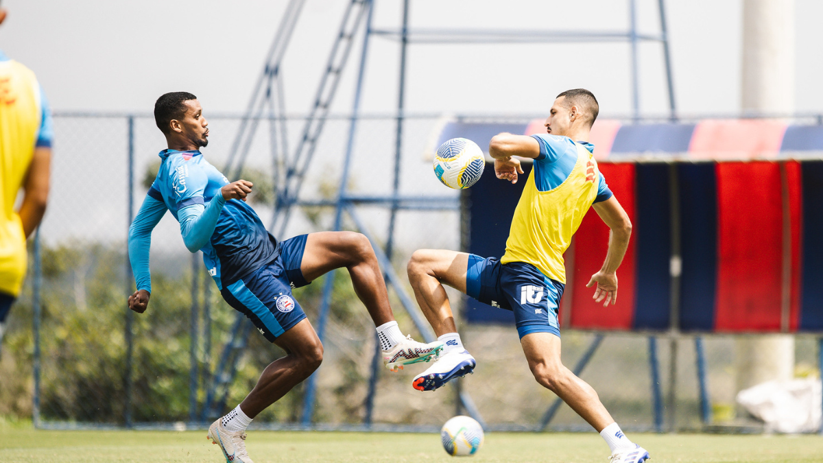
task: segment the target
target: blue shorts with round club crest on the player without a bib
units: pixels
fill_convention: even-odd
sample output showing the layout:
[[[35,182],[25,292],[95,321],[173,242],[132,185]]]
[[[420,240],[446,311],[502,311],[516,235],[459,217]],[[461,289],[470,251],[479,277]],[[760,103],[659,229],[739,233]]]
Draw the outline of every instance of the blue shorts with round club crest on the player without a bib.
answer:
[[[280,243],[280,255],[253,274],[221,290],[230,306],[252,320],[269,342],[306,317],[291,288],[309,284],[300,271],[306,235]]]

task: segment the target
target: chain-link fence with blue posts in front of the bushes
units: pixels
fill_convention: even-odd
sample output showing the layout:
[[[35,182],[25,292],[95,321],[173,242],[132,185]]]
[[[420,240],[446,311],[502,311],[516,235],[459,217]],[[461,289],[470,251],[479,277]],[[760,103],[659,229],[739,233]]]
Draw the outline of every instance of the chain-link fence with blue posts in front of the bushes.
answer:
[[[210,119],[210,144],[203,152],[218,169],[226,163],[240,123],[239,118]],[[347,118],[326,122],[302,190],[304,199],[333,199],[337,194],[349,123]],[[300,118],[286,121],[287,147],[297,139],[302,124]],[[391,191],[396,124],[397,119],[389,117],[360,119],[351,191]],[[430,194],[435,189],[439,195],[450,194],[431,174],[430,158],[424,155],[431,149],[440,124],[436,117],[405,120],[402,194]],[[189,254],[182,245],[172,217],[164,217],[152,236],[153,291],[148,311],[130,315],[126,307],[126,296],[133,291],[126,255],[129,210],[137,211],[151,185],[159,162],[156,154],[165,147],[165,140],[147,116],[59,115],[54,126],[49,211],[40,227],[36,250],[40,264],[39,268],[35,264],[38,260],[33,258],[32,246],[26,290],[12,309],[0,357],[0,414],[33,414],[35,423],[43,427],[207,423],[207,392],[230,341],[235,311],[214,290],[200,256]],[[272,219],[271,179],[277,168],[270,143],[266,136],[256,138],[240,174],[254,182],[253,207],[266,224]],[[133,179],[131,185],[129,178]],[[457,202],[457,194],[451,194]],[[285,236],[278,238],[331,229],[333,215],[333,208],[302,207],[292,215]],[[388,210],[364,207],[360,215],[370,232],[385,241]],[[458,208],[401,211],[395,232],[393,263],[405,278],[405,264],[414,250],[459,248]],[[36,281],[40,285],[37,298],[33,298],[35,273],[42,275]],[[334,278],[325,358],[316,373],[314,423],[358,426],[366,416],[374,325],[345,272]],[[323,282],[317,281],[295,291],[309,320],[317,320],[322,287]],[[450,294],[453,301],[461,300],[456,293]],[[390,292],[390,297],[402,330],[419,339],[396,295]],[[462,391],[472,396],[485,422],[492,428],[533,429],[546,419],[556,396],[534,381],[514,327],[462,324],[461,330],[479,366],[476,374],[458,382]],[[565,332],[563,360],[573,367],[591,354],[580,376],[597,390],[624,428],[663,429],[671,423],[678,429],[703,428],[705,423],[752,424],[737,418],[734,405],[732,336],[701,339],[706,369],[706,394],[702,396],[710,400],[710,416],[706,416],[694,337],[664,335],[652,341],[649,334],[607,334],[592,351],[600,335]],[[815,339],[796,339],[797,374],[816,374]],[[672,346],[676,348],[674,355]],[[659,366],[655,379],[652,353]],[[280,348],[252,333],[226,406],[243,400],[263,367],[281,355]],[[374,428],[439,427],[459,412],[456,387],[434,393],[414,391],[411,381],[416,371],[379,369]],[[653,381],[662,387],[653,387]],[[664,396],[655,397],[656,391],[663,391]],[[301,423],[304,395],[305,386],[297,386],[265,410],[255,425]],[[673,421],[660,422],[655,399]],[[573,410],[560,405],[549,428],[588,429],[588,425]]]

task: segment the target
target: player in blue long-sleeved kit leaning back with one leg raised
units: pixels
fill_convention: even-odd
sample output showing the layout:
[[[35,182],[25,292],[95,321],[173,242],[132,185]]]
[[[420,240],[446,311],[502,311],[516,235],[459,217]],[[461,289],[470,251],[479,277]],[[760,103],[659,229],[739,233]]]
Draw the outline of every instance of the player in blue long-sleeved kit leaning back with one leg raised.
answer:
[[[388,294],[368,239],[354,232],[319,232],[277,241],[245,203],[253,185],[229,182],[199,151],[208,144],[208,123],[196,96],[166,93],[155,105],[157,127],[168,149],[160,152],[160,171],[146,194],[128,235],[128,255],[137,291],[128,306],[143,313],[151,295],[151,231],[168,210],[180,224],[191,252],[203,261],[221,295],[252,320],[261,334],[286,351],[268,365],[249,395],[209,427],[230,463],[251,463],[245,429],[263,409],[305,380],[323,360],[323,345],[291,295],[332,269],[346,267],[357,297],[377,327],[386,366],[436,358],[440,341],[422,344],[403,336],[388,305]]]

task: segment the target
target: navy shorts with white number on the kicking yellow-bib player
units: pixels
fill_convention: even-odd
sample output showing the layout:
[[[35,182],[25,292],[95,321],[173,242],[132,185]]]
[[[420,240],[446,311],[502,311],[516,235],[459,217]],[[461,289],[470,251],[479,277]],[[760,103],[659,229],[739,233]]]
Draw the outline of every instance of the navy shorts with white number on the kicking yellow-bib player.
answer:
[[[564,288],[532,264],[500,264],[495,257],[468,255],[466,293],[484,304],[514,311],[521,338],[529,333],[560,336],[557,307]]]

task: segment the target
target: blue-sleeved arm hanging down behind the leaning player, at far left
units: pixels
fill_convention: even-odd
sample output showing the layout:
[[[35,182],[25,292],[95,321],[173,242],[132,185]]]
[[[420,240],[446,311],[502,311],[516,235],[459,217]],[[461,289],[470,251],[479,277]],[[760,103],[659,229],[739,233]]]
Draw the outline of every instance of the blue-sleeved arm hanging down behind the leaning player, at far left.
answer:
[[[149,250],[151,249],[151,231],[163,218],[165,203],[146,194],[137,217],[128,227],[128,260],[132,264],[137,291],[128,297],[128,308],[143,313],[149,303],[151,294],[151,274],[149,273]]]

